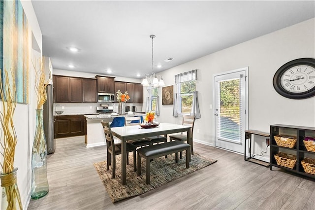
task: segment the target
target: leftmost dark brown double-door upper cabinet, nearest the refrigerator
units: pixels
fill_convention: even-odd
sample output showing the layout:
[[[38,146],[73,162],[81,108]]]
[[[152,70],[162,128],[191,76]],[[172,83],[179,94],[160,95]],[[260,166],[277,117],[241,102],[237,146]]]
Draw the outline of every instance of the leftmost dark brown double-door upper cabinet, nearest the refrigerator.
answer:
[[[82,102],[82,78],[53,76],[55,102]]]

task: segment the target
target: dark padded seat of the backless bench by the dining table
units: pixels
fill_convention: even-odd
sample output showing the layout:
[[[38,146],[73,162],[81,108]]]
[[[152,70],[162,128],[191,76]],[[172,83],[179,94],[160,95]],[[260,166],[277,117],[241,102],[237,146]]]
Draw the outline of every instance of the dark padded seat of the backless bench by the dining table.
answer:
[[[181,141],[170,141],[162,144],[151,145],[137,149],[137,152],[145,157],[152,157],[158,154],[171,153],[179,150],[186,150],[190,145]]]

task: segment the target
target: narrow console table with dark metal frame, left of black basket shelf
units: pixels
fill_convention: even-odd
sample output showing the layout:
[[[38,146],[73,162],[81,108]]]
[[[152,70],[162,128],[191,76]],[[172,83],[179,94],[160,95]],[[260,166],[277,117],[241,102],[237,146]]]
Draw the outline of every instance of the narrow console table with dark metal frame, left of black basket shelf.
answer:
[[[269,138],[270,137],[270,134],[269,133],[265,133],[265,132],[262,132],[262,131],[257,131],[257,130],[246,130],[245,131],[245,151],[244,151],[244,160],[245,161],[250,161],[252,163],[256,163],[256,164],[259,164],[259,165],[262,165],[262,166],[265,166],[265,167],[269,167],[270,164],[265,162],[265,161],[262,161],[262,160],[258,160],[254,157],[252,157],[252,134],[253,135],[257,135],[257,136],[262,136],[262,137],[267,137]],[[246,141],[247,140],[250,140],[249,142],[249,157],[246,156]]]

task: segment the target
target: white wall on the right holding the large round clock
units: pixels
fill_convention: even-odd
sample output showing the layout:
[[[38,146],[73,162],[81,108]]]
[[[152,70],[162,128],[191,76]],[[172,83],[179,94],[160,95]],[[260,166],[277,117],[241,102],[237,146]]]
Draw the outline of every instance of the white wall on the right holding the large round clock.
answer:
[[[315,126],[315,97],[292,100],[279,95],[273,88],[275,72],[286,62],[310,57],[315,58],[315,19],[263,35],[233,47],[193,60],[160,72],[165,86],[174,85],[174,75],[198,69],[198,91],[201,119],[195,121],[194,140],[214,145],[213,74],[249,67],[249,129],[269,133],[272,124]],[[174,92],[176,87],[174,85]],[[159,88],[161,96],[161,88]],[[162,105],[158,120],[179,122],[172,116],[173,105]],[[200,130],[198,134],[196,131]],[[257,137],[256,137],[257,138]],[[258,148],[257,148],[258,147]],[[265,150],[265,141],[256,151]]]

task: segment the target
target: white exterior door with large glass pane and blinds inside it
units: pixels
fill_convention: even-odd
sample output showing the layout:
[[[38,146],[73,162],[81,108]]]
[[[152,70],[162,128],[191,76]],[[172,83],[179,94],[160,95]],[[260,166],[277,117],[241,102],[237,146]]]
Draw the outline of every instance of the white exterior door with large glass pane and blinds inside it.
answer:
[[[244,154],[248,68],[214,75],[215,146]]]

